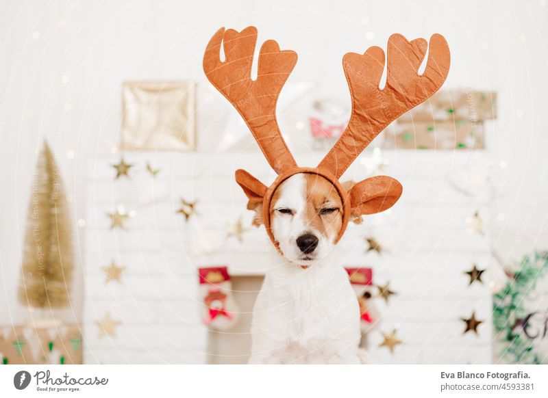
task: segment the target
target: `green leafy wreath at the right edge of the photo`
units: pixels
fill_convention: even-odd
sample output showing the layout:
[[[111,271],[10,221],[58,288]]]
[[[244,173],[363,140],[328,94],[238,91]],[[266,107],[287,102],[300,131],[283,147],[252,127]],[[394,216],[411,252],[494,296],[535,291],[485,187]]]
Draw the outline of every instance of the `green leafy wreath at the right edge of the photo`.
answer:
[[[525,256],[514,279],[508,281],[504,289],[493,295],[493,323],[506,347],[501,358],[510,363],[538,364],[540,358],[534,352],[534,341],[521,334],[516,328],[516,319],[527,316],[523,300],[536,287],[540,278],[548,273],[548,254],[534,252]]]

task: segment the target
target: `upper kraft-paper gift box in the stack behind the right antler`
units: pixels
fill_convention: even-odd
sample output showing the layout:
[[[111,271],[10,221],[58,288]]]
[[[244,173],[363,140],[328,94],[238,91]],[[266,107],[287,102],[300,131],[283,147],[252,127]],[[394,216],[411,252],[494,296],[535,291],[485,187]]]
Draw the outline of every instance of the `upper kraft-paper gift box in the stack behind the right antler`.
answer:
[[[467,120],[483,122],[497,118],[497,93],[444,90],[401,115],[398,123]]]

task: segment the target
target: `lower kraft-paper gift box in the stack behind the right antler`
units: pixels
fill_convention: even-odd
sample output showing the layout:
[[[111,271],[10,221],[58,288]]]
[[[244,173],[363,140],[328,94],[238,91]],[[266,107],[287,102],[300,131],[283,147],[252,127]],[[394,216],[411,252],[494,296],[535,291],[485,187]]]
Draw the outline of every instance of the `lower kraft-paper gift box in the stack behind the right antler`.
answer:
[[[385,148],[483,149],[482,123],[455,120],[450,122],[401,122],[385,132]]]

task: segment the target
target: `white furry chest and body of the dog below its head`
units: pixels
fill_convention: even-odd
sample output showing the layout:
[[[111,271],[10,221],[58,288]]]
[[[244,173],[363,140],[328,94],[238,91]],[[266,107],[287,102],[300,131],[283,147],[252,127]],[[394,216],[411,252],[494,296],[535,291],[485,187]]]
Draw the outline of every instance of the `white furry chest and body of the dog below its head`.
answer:
[[[358,363],[359,311],[343,267],[282,265],[253,310],[250,363]]]

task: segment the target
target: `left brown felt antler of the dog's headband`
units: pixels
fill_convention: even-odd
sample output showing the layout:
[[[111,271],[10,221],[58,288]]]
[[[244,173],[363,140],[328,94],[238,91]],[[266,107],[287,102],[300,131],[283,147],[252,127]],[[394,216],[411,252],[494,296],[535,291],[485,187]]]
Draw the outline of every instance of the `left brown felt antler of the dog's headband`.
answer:
[[[223,42],[225,61],[219,57]],[[251,80],[251,64],[257,42],[256,27],[240,33],[221,28],[211,38],[203,57],[203,70],[245,120],[266,160],[278,174],[296,167],[276,120],[279,92],[295,63],[295,51],[280,51],[277,42],[267,40],[259,53],[256,81]]]

